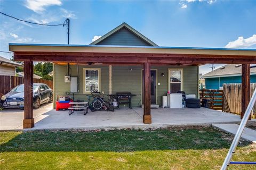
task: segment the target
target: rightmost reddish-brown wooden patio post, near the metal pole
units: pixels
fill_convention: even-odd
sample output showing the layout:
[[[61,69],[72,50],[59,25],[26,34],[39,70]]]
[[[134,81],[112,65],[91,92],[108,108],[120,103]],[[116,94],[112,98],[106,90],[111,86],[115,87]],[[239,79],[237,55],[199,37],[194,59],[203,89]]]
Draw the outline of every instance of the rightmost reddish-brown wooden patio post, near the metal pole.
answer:
[[[244,116],[245,110],[250,102],[250,64],[242,64],[242,108],[241,119]],[[251,120],[251,116],[249,118]]]

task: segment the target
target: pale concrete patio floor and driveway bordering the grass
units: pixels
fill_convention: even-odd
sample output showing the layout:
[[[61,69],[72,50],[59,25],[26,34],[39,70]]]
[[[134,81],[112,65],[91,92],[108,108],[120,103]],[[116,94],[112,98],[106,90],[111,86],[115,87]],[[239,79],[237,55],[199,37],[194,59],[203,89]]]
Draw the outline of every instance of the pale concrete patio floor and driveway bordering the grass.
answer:
[[[207,108],[151,109],[152,124],[142,123],[143,109],[140,107],[133,109],[116,109],[115,112],[89,111],[86,115],[83,115],[83,112],[77,111],[70,116],[68,115],[68,111],[55,111],[51,109],[51,105],[46,105],[40,109],[40,112],[34,111],[35,127],[32,130],[165,128],[166,126],[211,125],[241,122],[239,115],[223,113]],[[0,130],[22,129],[23,112],[10,114],[10,112],[2,111],[0,118]],[[250,122],[256,123],[256,120]]]

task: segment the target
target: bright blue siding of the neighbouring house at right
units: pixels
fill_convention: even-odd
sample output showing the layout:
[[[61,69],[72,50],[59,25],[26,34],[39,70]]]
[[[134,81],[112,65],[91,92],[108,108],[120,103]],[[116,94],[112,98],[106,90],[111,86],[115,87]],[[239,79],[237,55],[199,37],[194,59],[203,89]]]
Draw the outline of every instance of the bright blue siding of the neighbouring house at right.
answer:
[[[256,82],[256,75],[251,75],[251,83]],[[242,76],[205,78],[206,89],[219,89],[223,83],[242,83]]]

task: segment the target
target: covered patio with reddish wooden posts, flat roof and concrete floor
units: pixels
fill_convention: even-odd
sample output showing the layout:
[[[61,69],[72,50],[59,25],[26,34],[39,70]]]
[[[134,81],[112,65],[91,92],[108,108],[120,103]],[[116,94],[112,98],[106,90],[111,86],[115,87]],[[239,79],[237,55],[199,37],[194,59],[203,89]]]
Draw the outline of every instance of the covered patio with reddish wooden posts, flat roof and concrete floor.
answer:
[[[62,125],[66,127],[79,124],[86,124],[87,120],[109,122],[108,116],[122,116],[117,125],[182,125],[182,124],[211,124],[239,121],[237,115],[212,111],[210,109],[150,109],[150,68],[154,65],[201,65],[206,63],[233,63],[242,64],[242,114],[250,100],[250,64],[256,64],[256,50],[246,49],[217,49],[217,48],[185,48],[185,47],[145,47],[145,46],[108,46],[108,45],[44,45],[44,44],[9,44],[10,51],[14,52],[14,60],[24,61],[25,70],[25,112],[23,128],[34,127],[33,116],[33,62],[48,61],[55,64],[92,64],[102,63],[106,65],[143,65],[143,111],[141,108],[133,110],[120,110],[118,112],[95,112],[83,118],[76,118],[72,121],[72,116],[55,111],[49,112],[48,116],[39,121],[38,127],[50,128],[62,120]],[[54,89],[53,89],[54,90]],[[123,114],[122,112],[125,112]],[[195,114],[191,116],[192,114]],[[58,115],[61,115],[58,117]],[[133,116],[131,116],[133,115]],[[197,116],[196,116],[197,115]],[[56,117],[57,116],[57,117]],[[73,116],[83,116],[74,114]],[[89,117],[93,118],[90,119]],[[175,119],[175,116],[178,117]],[[206,116],[205,118],[203,118]],[[212,117],[213,116],[213,117]],[[55,118],[54,118],[55,117]],[[89,119],[88,119],[89,118]],[[200,118],[200,119],[199,119]],[[48,121],[46,121],[48,120]],[[193,121],[194,120],[194,121]],[[204,121],[200,121],[204,120]],[[67,122],[65,122],[67,121]],[[127,123],[128,121],[128,123]],[[131,122],[129,122],[131,121]],[[73,122],[73,123],[72,123]],[[143,123],[142,123],[143,122]],[[87,122],[90,124],[90,121]],[[104,124],[104,123],[103,123]],[[81,126],[81,125],[79,125]],[[108,126],[108,124],[106,124]],[[74,127],[73,127],[74,128]]]

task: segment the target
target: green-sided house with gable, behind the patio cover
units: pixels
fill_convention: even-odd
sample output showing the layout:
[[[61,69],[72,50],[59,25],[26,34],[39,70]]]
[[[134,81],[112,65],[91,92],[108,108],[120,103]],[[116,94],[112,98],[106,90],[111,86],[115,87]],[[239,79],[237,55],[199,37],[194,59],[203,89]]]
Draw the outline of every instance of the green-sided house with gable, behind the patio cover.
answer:
[[[130,25],[122,23],[106,35],[90,44],[98,47],[157,47],[153,41],[143,36]],[[118,52],[118,51],[117,51]],[[122,51],[120,52],[122,53]],[[79,62],[79,61],[78,61]],[[78,92],[74,93],[75,100],[89,100],[90,87],[105,94],[116,92],[131,92],[132,106],[142,105],[142,72],[140,64],[106,64],[106,63],[55,63],[54,64],[54,95],[73,96],[70,94],[70,83],[65,83],[65,75],[78,78]],[[167,91],[175,93],[185,91],[186,94],[198,96],[198,65],[166,64],[151,65],[151,105],[162,106],[162,96]]]

